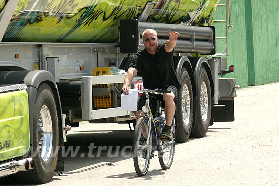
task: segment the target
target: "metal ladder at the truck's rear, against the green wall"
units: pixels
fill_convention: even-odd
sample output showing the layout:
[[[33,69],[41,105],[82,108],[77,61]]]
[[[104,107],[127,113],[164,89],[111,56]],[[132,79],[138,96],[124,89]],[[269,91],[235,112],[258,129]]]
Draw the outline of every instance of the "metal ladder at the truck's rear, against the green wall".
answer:
[[[214,23],[226,23],[226,36],[216,37],[216,40],[226,40],[223,53],[216,53],[213,56],[227,56],[229,54],[228,42],[229,42],[229,28],[233,28],[231,24],[231,6],[230,0],[226,0],[225,4],[218,4],[217,7],[226,7],[226,20],[214,20]]]

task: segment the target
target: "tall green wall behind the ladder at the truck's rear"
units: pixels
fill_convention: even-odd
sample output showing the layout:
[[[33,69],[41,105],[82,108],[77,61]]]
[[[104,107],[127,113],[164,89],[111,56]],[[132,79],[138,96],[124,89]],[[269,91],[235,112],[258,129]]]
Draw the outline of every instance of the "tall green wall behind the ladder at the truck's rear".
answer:
[[[221,0],[220,4],[224,4]],[[218,7],[215,20],[225,19],[225,7]],[[231,0],[228,66],[234,72],[225,77],[237,78],[242,87],[279,82],[278,41],[279,3],[274,0]],[[226,23],[215,23],[216,35],[225,36]],[[216,42],[223,52],[225,41]]]

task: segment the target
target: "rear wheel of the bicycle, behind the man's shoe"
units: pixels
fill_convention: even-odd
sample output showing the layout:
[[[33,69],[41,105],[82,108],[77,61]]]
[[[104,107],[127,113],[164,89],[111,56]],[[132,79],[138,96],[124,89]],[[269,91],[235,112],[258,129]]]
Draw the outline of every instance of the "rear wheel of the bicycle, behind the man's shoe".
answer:
[[[158,151],[159,162],[162,169],[169,169],[172,165],[173,158],[175,157],[175,148],[176,148],[176,134],[175,134],[175,125],[171,125],[173,136],[172,142],[169,145],[164,146],[163,151]],[[162,140],[162,144],[167,143],[169,141]]]

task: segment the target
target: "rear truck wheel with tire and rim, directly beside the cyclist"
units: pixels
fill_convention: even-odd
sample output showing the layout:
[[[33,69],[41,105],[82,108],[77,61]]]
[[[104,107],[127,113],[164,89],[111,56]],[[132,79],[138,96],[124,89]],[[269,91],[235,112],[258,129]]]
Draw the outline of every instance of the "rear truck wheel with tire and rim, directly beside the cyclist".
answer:
[[[181,89],[176,104],[176,139],[178,142],[186,142],[191,133],[194,110],[192,84],[186,68],[182,68],[180,84]]]

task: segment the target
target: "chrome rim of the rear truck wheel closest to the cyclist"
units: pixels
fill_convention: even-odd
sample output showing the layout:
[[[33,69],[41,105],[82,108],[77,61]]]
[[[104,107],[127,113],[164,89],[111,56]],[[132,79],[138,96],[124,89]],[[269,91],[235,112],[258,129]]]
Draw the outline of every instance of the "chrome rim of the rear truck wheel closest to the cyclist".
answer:
[[[187,126],[190,123],[190,94],[186,84],[183,85],[181,98],[183,123]]]

